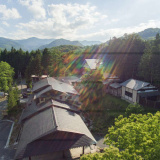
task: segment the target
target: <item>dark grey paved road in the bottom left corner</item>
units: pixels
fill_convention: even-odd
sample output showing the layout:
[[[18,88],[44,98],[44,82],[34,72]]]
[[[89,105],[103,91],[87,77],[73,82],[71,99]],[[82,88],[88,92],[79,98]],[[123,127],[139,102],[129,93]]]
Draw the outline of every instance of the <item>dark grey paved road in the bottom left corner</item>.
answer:
[[[0,160],[13,160],[15,149],[5,148],[12,123],[0,120]]]

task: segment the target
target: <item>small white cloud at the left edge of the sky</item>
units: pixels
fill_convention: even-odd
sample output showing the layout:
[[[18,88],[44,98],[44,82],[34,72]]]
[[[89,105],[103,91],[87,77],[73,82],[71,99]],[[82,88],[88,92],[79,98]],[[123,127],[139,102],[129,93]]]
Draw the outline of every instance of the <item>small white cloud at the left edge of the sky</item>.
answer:
[[[0,19],[18,19],[21,18],[16,8],[7,8],[6,5],[0,5]]]

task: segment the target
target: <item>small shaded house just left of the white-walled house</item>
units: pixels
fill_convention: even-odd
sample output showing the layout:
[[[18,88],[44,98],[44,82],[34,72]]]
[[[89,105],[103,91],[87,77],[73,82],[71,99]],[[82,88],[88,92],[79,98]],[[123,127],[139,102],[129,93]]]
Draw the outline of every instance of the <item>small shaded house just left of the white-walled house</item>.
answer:
[[[107,92],[114,96],[121,97],[122,86],[119,83],[111,83],[108,86]]]

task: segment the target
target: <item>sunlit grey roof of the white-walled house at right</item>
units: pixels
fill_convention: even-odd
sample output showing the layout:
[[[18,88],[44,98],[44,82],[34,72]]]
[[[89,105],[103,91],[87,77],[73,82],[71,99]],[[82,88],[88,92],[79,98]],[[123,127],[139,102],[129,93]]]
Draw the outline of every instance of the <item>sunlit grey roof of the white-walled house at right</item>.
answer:
[[[139,90],[149,84],[150,83],[147,83],[147,82],[143,82],[143,81],[139,81],[139,80],[135,80],[135,79],[129,79],[129,80],[121,83],[121,86],[130,88],[133,90]]]

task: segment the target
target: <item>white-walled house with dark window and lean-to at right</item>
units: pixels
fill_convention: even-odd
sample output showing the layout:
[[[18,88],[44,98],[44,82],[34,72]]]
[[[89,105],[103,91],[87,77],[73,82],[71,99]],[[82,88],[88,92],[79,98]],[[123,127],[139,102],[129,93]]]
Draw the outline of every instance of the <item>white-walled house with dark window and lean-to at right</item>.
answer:
[[[122,99],[131,103],[139,103],[142,97],[146,99],[157,100],[160,92],[155,86],[148,82],[143,82],[135,79],[129,79],[123,83],[122,86]]]

